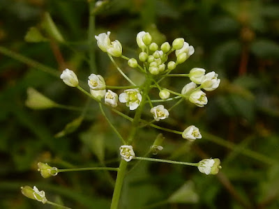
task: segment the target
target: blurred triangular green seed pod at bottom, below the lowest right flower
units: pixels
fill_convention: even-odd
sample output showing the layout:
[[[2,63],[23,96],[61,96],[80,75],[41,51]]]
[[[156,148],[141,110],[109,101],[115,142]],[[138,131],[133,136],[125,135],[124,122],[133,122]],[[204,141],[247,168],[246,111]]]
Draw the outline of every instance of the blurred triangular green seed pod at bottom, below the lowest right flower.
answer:
[[[182,187],[180,187],[167,200],[169,203],[197,203],[199,196],[195,192],[195,185],[193,181],[188,180]]]

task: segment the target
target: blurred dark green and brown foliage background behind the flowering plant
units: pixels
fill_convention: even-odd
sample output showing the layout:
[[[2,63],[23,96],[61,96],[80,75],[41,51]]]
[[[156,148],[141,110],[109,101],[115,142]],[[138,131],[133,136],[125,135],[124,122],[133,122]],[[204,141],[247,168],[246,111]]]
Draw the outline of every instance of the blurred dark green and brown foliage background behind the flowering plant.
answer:
[[[70,68],[87,89],[91,51],[94,70],[108,85],[126,85],[95,40],[89,41],[94,38],[88,39],[89,3],[0,0],[0,11],[0,208],[52,208],[24,197],[24,185],[36,185],[50,201],[71,208],[110,208],[116,173],[82,171],[43,179],[36,171],[38,162],[61,169],[119,165],[120,141],[98,104],[59,79]],[[59,33],[53,33],[53,25],[52,30],[45,26],[46,12]],[[206,107],[183,102],[158,123],[174,130],[196,125],[202,139],[189,144],[179,135],[161,132],[164,150],[155,156],[184,162],[218,157],[221,172],[206,176],[195,167],[141,162],[126,176],[121,208],[279,208],[278,1],[112,0],[91,13],[96,15],[91,18],[94,34],[112,31],[124,55],[137,58],[139,31],[149,31],[159,44],[181,37],[195,47],[195,54],[176,72],[199,67],[216,71],[221,79],[220,87],[208,93]],[[26,36],[30,27],[33,35]],[[135,70],[116,61],[140,82]],[[180,92],[188,82],[169,78],[163,86]],[[28,87],[84,111],[29,109]],[[158,93],[152,96],[158,98]],[[129,114],[124,106],[117,108]],[[130,123],[105,111],[126,137]],[[147,110],[145,117],[150,118]],[[82,123],[74,131],[64,129],[77,118]],[[144,155],[158,133],[142,129],[135,153]]]

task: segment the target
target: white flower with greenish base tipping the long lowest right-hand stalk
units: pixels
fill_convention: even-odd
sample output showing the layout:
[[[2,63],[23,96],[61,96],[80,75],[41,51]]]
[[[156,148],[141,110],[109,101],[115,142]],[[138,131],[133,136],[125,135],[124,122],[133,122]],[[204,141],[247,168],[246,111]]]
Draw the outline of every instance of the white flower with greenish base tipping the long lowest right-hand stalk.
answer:
[[[201,160],[199,161],[199,166],[197,167],[201,173],[205,173],[206,175],[216,175],[221,168],[220,160],[218,158]]]

